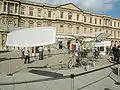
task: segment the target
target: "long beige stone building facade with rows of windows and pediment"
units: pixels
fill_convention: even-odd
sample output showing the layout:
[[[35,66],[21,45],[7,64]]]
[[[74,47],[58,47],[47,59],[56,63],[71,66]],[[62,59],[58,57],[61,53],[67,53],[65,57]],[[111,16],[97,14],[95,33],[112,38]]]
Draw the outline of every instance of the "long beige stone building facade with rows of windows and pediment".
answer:
[[[120,43],[120,19],[86,12],[73,3],[50,5],[26,0],[0,0],[0,50],[6,49],[11,28],[56,27],[57,33],[110,33],[109,41]]]

